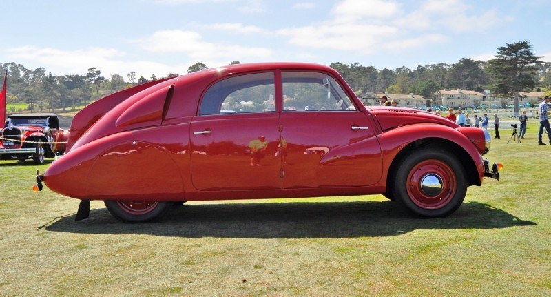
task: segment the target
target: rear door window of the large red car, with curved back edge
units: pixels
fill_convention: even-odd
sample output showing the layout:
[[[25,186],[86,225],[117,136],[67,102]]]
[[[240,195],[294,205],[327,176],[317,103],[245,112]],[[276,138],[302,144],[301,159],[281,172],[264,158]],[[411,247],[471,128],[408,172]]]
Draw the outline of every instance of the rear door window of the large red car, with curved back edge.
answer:
[[[211,85],[199,114],[275,112],[273,72],[233,76]]]

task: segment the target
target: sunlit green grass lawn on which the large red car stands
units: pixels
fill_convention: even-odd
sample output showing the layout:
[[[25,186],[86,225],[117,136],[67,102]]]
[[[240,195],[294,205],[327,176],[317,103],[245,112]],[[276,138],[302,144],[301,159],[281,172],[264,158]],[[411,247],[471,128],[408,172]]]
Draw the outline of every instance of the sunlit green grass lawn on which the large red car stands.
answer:
[[[0,161],[0,296],[551,296],[551,145],[492,141],[501,181],[441,219],[382,196],[174,207],[116,221],[103,203],[32,192],[36,165]],[[45,170],[48,165],[39,166]]]

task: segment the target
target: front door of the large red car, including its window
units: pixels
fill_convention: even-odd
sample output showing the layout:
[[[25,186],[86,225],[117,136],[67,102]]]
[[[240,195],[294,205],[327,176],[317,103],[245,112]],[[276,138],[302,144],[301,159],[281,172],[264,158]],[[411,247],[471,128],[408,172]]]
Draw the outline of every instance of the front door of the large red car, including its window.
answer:
[[[283,187],[360,187],[382,176],[373,121],[328,74],[282,72]]]

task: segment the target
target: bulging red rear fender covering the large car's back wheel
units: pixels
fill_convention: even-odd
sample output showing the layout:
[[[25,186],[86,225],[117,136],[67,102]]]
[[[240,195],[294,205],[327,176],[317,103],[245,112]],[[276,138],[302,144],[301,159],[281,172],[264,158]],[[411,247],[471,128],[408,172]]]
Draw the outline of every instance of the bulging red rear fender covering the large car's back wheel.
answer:
[[[181,131],[177,125],[164,129],[170,128],[174,135]],[[85,143],[52,163],[43,181],[54,192],[84,200],[185,200],[180,166],[174,153],[154,144],[158,138],[166,136],[132,131]],[[185,154],[180,158],[189,160]]]

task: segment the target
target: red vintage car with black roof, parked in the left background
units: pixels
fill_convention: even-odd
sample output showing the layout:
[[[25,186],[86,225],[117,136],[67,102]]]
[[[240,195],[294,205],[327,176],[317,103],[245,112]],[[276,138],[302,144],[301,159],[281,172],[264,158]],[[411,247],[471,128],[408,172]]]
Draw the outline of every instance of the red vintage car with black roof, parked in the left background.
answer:
[[[32,158],[35,164],[65,153],[69,136],[59,128],[56,114],[12,114],[0,132],[1,160]]]

